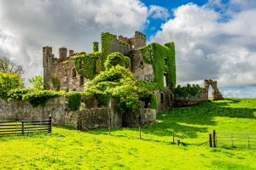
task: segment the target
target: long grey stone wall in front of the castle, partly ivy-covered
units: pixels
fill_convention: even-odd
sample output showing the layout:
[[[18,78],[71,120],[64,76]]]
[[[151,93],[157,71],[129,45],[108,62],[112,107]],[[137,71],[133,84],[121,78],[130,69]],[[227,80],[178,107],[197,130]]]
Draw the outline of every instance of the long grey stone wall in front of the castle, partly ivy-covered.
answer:
[[[142,116],[145,125],[156,122],[155,110],[141,108],[134,113],[121,114],[115,99],[111,99],[109,107],[101,108],[95,96],[84,96],[81,99],[81,111],[70,111],[67,96],[49,99],[45,107],[32,108],[28,102],[5,102],[3,99],[0,99],[0,105],[1,121],[47,120],[51,116],[54,125],[70,125],[82,130],[108,127],[109,123],[112,127],[136,127],[137,116]]]

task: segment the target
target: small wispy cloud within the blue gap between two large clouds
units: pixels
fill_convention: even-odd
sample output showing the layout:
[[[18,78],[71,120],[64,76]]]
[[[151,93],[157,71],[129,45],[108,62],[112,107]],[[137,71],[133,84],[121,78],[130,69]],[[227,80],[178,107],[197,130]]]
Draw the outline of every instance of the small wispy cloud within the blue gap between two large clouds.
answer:
[[[154,19],[167,20],[170,16],[168,9],[157,5],[150,5],[148,16],[152,16]]]

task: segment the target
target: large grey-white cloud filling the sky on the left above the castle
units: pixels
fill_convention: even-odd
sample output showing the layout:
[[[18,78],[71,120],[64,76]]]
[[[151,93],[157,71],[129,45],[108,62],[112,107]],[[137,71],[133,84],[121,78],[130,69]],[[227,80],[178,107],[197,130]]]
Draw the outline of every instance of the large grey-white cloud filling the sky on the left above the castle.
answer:
[[[43,75],[43,46],[52,46],[56,57],[62,46],[91,52],[102,31],[131,37],[147,17],[138,0],[0,0],[0,55],[24,65],[26,78]]]

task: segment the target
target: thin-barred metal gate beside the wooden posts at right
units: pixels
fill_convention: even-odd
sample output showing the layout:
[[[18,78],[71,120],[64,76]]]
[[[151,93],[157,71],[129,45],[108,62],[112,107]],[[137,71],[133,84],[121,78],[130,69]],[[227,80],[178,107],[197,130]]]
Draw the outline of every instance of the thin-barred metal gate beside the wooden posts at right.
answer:
[[[213,133],[215,133],[213,131]],[[246,146],[256,148],[256,133],[215,133],[213,143],[217,145]],[[213,144],[214,145],[214,144]]]

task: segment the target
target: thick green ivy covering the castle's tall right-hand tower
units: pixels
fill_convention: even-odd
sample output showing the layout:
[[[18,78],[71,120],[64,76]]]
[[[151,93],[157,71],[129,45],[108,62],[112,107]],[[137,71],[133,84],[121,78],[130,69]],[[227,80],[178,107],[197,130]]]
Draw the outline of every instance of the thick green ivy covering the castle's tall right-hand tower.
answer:
[[[143,59],[146,63],[153,65],[154,82],[157,88],[164,88],[164,73],[166,72],[166,84],[171,90],[176,84],[176,65],[175,65],[175,47],[173,42],[168,42],[165,45],[158,43],[150,43],[147,46],[140,48],[143,54]]]

